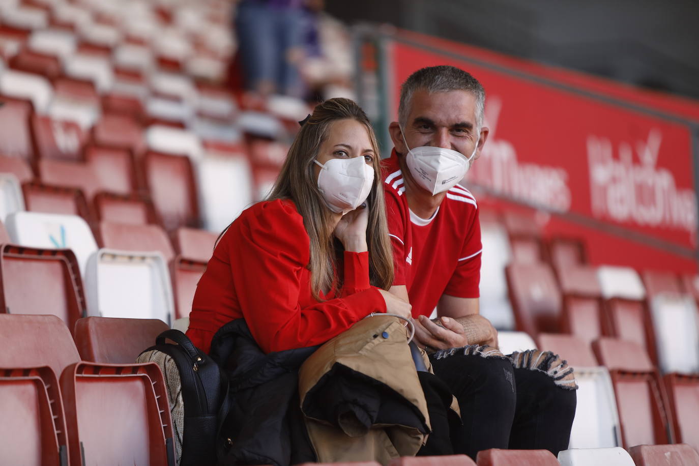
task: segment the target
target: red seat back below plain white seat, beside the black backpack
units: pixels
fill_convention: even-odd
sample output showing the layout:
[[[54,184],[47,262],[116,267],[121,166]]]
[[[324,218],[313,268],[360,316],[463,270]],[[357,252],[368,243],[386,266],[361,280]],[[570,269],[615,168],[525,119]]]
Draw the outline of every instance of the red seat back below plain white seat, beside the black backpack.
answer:
[[[167,324],[157,319],[86,317],[75,323],[75,346],[82,361],[131,364],[165,330]]]

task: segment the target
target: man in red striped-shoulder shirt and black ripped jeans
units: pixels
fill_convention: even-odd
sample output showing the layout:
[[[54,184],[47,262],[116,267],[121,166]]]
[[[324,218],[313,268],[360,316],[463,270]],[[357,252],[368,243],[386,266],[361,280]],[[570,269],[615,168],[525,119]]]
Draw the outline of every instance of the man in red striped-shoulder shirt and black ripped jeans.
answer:
[[[401,87],[398,122],[389,126],[394,150],[382,166],[391,292],[412,305],[415,339],[435,351],[435,374],[459,400],[463,426],[452,431],[454,453],[557,454],[568,448],[575,416],[572,368],[549,352],[503,356],[495,328],[478,310],[478,203],[457,183],[488,138],[484,101],[480,82],[453,66],[422,68]]]

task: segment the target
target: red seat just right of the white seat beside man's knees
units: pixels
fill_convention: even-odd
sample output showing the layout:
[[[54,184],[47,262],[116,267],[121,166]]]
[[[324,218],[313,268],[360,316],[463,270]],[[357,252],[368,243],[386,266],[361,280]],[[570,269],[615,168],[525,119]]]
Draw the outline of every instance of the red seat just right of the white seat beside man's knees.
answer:
[[[606,337],[593,342],[593,349],[610,370],[622,446],[668,443],[671,419],[665,389],[646,351],[634,342]]]

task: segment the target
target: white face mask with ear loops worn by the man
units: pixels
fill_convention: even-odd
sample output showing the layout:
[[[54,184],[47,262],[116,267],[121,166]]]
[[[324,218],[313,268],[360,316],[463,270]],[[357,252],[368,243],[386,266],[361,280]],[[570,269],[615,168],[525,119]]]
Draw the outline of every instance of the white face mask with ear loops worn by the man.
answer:
[[[401,136],[403,136],[405,147],[408,147],[408,141],[405,140],[403,129],[401,129]],[[408,155],[405,156],[405,161],[408,163],[410,174],[415,182],[434,196],[453,188],[456,183],[466,176],[477,149],[478,140],[476,140],[470,157],[466,157],[461,152],[444,149],[443,147],[428,145],[413,147],[412,149],[408,147]]]

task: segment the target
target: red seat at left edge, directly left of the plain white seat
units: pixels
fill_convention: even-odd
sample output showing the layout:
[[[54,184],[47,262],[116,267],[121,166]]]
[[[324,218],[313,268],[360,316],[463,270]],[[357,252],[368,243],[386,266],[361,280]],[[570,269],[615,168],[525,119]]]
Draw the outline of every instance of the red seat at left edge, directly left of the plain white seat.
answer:
[[[55,314],[73,328],[85,314],[85,293],[70,249],[0,249],[0,312]]]

